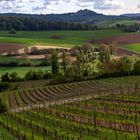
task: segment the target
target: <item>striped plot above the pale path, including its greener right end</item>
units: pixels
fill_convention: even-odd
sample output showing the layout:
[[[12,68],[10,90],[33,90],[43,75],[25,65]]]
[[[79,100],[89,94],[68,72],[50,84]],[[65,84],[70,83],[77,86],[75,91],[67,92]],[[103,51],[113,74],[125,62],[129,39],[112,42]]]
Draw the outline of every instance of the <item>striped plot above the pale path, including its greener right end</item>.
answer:
[[[44,85],[41,86],[41,84],[39,84],[40,88],[27,88],[27,90],[22,87],[21,89],[24,90],[19,89],[16,92],[10,92],[10,95],[8,96],[9,107],[15,109],[33,104],[43,104],[48,101],[61,100],[63,98],[69,99],[73,96],[79,97],[84,95],[92,95],[93,93],[98,93],[99,90],[102,90],[104,94],[107,88],[118,89],[121,88],[122,85],[126,89],[129,85],[134,88],[135,84],[139,82],[139,76],[131,76],[129,78],[110,78],[47,87],[44,87]],[[43,83],[45,83],[45,81],[43,81],[42,84]],[[24,83],[22,83],[21,85],[23,84]]]

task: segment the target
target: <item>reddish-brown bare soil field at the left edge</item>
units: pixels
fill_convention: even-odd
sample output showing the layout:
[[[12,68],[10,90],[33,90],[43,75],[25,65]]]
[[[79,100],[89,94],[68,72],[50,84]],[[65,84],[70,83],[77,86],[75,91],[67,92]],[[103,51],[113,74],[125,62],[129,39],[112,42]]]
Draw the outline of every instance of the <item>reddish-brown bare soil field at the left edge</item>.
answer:
[[[0,54],[6,52],[16,53],[16,51],[24,47],[25,47],[24,45],[19,45],[19,44],[0,43]]]

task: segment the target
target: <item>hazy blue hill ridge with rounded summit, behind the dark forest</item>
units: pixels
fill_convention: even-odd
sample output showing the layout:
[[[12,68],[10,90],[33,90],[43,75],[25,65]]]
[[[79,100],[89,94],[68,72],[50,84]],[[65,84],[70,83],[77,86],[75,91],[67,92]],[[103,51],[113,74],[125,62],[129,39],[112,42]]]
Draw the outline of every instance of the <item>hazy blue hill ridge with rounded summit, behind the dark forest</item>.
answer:
[[[110,16],[96,13],[91,10],[79,10],[74,13],[64,13],[64,14],[46,14],[46,15],[33,15],[33,14],[15,14],[15,13],[6,13],[1,14],[4,16],[12,17],[30,17],[36,19],[45,19],[53,22],[80,22],[84,24],[96,24],[99,21],[103,20],[122,20],[128,19],[125,16]]]

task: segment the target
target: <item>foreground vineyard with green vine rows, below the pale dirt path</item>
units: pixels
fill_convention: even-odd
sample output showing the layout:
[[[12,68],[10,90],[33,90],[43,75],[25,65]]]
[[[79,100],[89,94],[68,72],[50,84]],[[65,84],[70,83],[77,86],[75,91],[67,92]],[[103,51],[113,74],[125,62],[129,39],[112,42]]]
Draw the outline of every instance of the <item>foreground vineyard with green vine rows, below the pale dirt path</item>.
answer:
[[[88,100],[8,112],[0,116],[0,123],[22,140],[138,140],[138,97],[133,90],[108,90]]]

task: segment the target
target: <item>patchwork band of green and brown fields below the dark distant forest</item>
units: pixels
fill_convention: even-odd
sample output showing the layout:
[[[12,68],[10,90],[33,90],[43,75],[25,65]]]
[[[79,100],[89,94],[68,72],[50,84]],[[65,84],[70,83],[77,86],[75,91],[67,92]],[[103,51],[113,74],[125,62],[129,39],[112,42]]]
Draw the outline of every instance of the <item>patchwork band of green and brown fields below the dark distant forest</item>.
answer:
[[[59,36],[59,39],[52,38]],[[93,42],[95,47],[101,43],[117,42],[120,47],[127,45],[130,51],[139,51],[134,44],[140,43],[140,34],[124,33],[117,30],[98,30],[98,31],[44,31],[44,32],[17,32],[10,35],[7,32],[0,32],[0,53],[22,50],[25,46],[40,48],[51,47],[74,47],[84,43]],[[19,44],[19,45],[18,45]],[[129,47],[131,45],[131,47]],[[46,47],[45,47],[46,46]],[[134,46],[134,48],[132,47]],[[137,47],[138,48],[138,47]],[[120,53],[121,52],[121,53]],[[120,55],[125,51],[120,50]],[[127,54],[127,52],[126,52]]]

